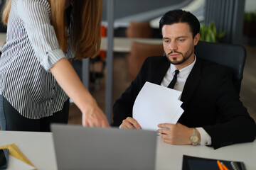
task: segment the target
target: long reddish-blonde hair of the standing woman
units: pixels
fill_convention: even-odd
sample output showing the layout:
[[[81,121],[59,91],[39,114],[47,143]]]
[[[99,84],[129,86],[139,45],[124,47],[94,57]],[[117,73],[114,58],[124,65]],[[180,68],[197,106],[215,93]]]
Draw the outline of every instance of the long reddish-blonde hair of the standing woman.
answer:
[[[68,48],[68,35],[65,32],[65,0],[48,0],[51,9],[51,23],[60,48]],[[102,0],[75,0],[73,52],[76,59],[95,57],[100,52],[100,27],[102,19]],[[7,25],[11,10],[11,0],[6,0],[2,11],[2,22]]]

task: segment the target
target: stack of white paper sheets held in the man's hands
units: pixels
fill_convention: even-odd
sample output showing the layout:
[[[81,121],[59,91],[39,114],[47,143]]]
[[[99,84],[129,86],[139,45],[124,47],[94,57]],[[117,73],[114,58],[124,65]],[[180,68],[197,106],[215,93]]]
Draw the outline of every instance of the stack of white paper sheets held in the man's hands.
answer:
[[[174,123],[181,117],[181,91],[146,82],[133,107],[132,117],[143,130],[158,130],[159,123]]]

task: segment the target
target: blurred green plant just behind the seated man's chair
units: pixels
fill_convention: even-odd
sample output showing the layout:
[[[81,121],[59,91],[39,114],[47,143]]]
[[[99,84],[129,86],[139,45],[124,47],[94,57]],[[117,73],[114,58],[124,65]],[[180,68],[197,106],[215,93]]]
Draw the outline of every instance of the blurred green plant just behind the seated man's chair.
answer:
[[[207,42],[218,42],[220,38],[223,38],[223,36],[226,33],[227,33],[226,31],[220,31],[219,33],[217,33],[215,23],[212,21],[210,22],[208,27],[201,24],[199,40],[207,41]]]

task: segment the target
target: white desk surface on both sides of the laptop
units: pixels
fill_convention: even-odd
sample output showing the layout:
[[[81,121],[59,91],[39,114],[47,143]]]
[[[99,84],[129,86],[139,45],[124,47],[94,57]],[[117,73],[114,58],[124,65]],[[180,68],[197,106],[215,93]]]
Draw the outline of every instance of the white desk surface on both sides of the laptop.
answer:
[[[15,143],[37,169],[57,169],[52,133],[0,131],[0,139],[0,146]],[[159,137],[156,146],[156,169],[181,169],[183,154],[240,161],[245,163],[247,170],[256,169],[256,141],[214,150],[206,146],[169,145]]]

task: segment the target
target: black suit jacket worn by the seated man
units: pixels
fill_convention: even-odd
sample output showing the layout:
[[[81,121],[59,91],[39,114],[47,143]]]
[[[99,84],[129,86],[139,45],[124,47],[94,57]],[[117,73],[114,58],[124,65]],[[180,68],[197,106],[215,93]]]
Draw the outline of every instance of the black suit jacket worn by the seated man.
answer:
[[[170,62],[164,56],[148,57],[137,77],[114,103],[113,124],[132,117],[134,101],[146,81],[161,84]],[[196,58],[186,80],[181,101],[184,112],[178,123],[190,128],[202,127],[215,149],[255,140],[255,121],[242,106],[232,80],[232,72],[219,64]]]

